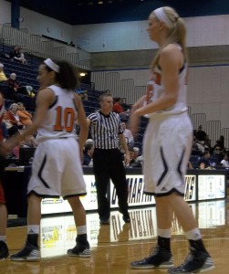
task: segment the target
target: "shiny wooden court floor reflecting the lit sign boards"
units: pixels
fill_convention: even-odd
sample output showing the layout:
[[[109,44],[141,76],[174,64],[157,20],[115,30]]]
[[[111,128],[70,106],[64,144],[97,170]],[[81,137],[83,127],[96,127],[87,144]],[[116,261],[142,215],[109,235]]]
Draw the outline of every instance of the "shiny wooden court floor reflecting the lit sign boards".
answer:
[[[212,255],[215,269],[208,273],[229,272],[229,204],[227,200],[190,205],[203,233],[206,248]],[[41,222],[41,261],[0,261],[0,274],[137,274],[166,273],[161,269],[130,269],[130,262],[144,258],[156,242],[155,207],[130,210],[131,223],[124,224],[120,213],[111,212],[110,225],[100,226],[96,213],[87,215],[90,258],[70,258],[68,248],[75,245],[73,217],[44,217]],[[10,253],[24,245],[26,227],[7,228]],[[172,223],[172,253],[175,264],[182,263],[188,251],[187,241],[176,219]]]

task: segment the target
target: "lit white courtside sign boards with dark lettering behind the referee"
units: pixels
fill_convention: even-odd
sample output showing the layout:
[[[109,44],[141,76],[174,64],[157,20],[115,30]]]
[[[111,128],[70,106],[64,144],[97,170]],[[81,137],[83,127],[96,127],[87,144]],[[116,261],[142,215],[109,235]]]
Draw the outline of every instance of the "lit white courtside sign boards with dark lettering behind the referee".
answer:
[[[80,197],[85,209],[97,210],[97,192],[94,175],[84,175],[87,195]],[[129,206],[155,205],[153,195],[144,194],[144,180],[142,174],[127,174],[129,188]],[[200,200],[222,199],[225,197],[225,176],[224,174],[187,174],[185,176],[184,199],[188,202]],[[118,197],[114,184],[110,184],[110,208],[118,208]],[[41,202],[41,214],[56,214],[71,212],[68,201],[62,197],[57,199],[43,199]]]

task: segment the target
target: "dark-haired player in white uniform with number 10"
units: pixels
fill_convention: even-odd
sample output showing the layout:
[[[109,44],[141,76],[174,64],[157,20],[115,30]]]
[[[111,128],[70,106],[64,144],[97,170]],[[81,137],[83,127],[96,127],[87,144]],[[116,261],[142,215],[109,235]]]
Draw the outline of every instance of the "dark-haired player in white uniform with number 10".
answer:
[[[33,124],[20,136],[5,142],[5,149],[10,150],[26,136],[37,132],[38,146],[27,186],[26,245],[10,259],[40,260],[37,239],[41,199],[59,195],[68,200],[77,227],[77,245],[68,250],[68,255],[89,257],[86,213],[79,200],[80,195],[86,195],[80,158],[88,138],[88,124],[82,101],[75,92],[78,88],[77,71],[67,61],[54,62],[48,58],[39,66],[37,79],[40,90]],[[80,125],[78,142],[74,133],[77,120]]]

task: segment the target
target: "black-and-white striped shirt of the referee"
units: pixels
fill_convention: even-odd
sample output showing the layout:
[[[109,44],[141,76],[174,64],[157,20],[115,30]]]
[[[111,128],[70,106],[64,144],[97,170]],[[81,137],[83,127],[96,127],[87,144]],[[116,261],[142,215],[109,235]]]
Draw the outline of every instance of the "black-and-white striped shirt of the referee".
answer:
[[[123,130],[118,113],[110,112],[109,115],[104,115],[101,111],[96,111],[88,115],[88,119],[91,121],[91,137],[95,148],[119,148],[119,134],[123,133]]]

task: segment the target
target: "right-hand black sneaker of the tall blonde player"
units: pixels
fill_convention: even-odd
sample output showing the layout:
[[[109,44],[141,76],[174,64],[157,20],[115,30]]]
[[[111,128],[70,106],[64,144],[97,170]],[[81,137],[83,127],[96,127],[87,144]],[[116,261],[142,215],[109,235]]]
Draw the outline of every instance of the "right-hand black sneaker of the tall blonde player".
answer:
[[[191,253],[185,259],[184,263],[177,267],[168,269],[168,273],[199,273],[214,269],[213,259],[206,251],[190,248]]]

